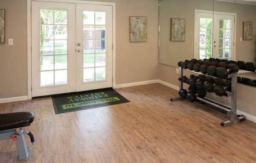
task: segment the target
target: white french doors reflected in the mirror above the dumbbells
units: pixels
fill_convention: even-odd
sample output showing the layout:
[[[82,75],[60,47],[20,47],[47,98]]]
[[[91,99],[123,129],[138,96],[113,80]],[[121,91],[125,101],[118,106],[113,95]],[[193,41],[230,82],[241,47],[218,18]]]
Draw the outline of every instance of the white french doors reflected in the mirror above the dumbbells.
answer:
[[[230,13],[196,12],[194,57],[234,59],[234,24]]]

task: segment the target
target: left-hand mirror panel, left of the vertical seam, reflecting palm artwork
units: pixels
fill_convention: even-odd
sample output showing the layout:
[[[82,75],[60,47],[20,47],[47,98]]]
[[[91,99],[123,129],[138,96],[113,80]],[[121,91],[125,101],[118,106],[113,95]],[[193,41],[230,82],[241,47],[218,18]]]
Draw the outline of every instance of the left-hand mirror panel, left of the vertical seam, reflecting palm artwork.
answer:
[[[212,27],[213,0],[159,0],[159,63],[177,67],[194,58],[195,40],[197,58],[211,55]]]

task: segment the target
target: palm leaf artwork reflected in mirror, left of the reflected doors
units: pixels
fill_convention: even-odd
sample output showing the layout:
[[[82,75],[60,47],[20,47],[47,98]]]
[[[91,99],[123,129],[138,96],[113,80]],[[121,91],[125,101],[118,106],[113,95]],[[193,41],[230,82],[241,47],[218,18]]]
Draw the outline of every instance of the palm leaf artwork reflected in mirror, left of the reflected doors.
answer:
[[[185,19],[171,18],[171,41],[185,41]]]

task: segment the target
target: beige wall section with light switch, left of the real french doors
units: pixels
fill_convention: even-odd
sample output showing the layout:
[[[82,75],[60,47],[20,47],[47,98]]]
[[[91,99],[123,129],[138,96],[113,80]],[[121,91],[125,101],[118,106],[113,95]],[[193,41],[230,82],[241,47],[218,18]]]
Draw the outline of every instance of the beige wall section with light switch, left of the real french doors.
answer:
[[[6,9],[5,43],[0,43],[0,98],[27,95],[27,1],[0,0]],[[13,38],[14,45],[8,45]]]

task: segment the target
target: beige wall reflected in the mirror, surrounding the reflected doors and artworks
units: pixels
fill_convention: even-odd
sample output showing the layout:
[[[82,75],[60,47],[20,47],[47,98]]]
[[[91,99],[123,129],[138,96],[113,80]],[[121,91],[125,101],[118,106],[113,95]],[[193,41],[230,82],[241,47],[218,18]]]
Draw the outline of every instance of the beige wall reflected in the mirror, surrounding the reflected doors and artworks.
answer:
[[[194,58],[195,9],[236,13],[236,60],[256,62],[256,5],[212,0],[163,0],[160,5],[159,63],[177,67],[177,62]],[[186,19],[186,40],[170,41],[170,18]],[[254,40],[240,42],[243,22],[253,22]]]

